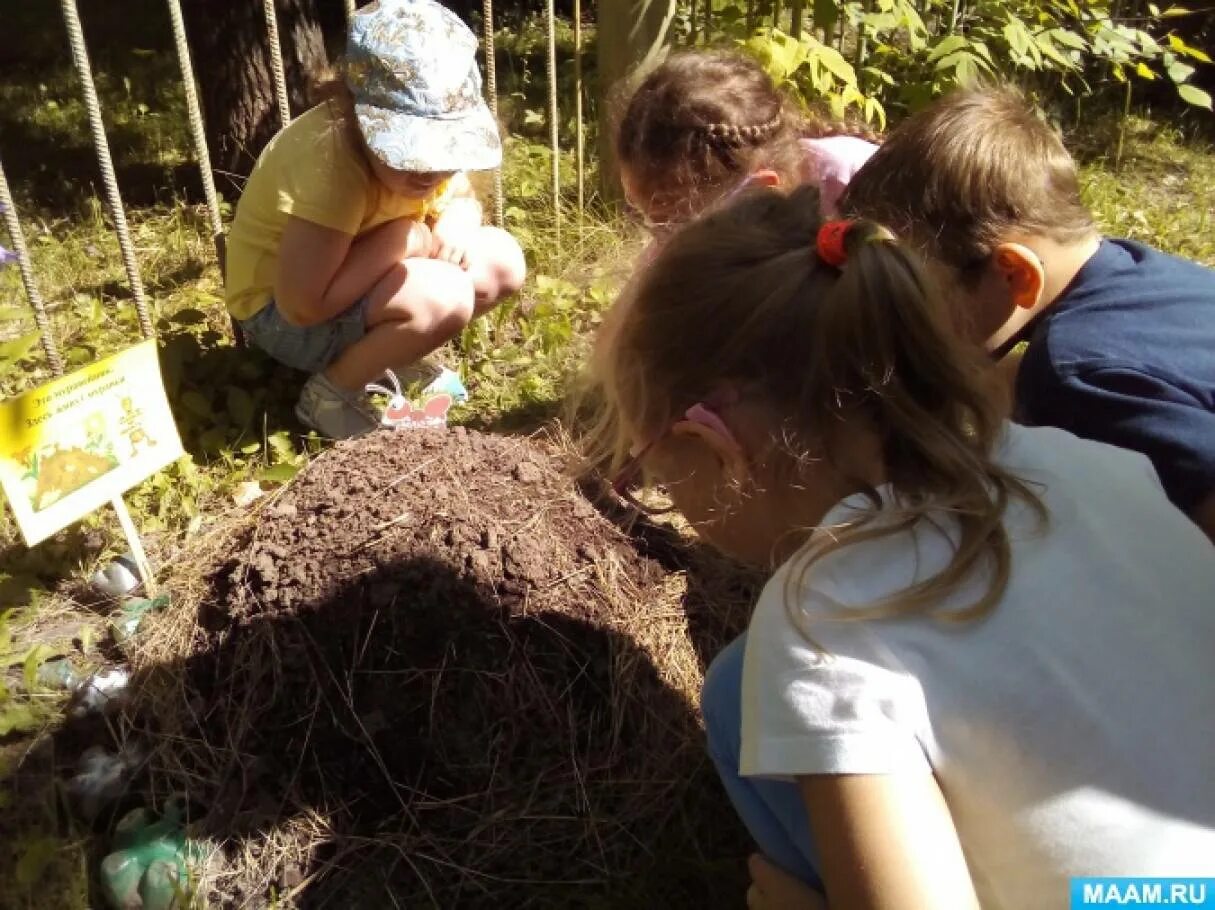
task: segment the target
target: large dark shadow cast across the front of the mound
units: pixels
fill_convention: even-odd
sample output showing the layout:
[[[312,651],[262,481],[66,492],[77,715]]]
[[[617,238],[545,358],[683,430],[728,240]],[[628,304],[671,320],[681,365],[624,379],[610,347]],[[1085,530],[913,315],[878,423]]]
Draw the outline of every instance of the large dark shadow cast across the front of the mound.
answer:
[[[696,711],[629,637],[430,559],[200,620],[203,648],[134,682],[130,731],[179,744],[159,784],[188,787],[199,836],[281,850],[298,906],[738,905],[746,844]],[[329,846],[290,857],[316,818]]]

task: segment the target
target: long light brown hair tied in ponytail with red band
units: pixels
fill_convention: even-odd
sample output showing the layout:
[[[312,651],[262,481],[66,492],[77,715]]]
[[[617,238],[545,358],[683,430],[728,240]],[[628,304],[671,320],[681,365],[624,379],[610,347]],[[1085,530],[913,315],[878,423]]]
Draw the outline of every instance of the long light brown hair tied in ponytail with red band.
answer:
[[[985,569],[985,593],[946,618],[978,616],[1008,578],[1005,507],[1019,497],[1042,514],[1028,486],[993,460],[1004,422],[989,371],[953,334],[910,250],[857,222],[837,270],[814,251],[819,226],[815,190],[756,190],[672,238],[597,352],[601,425],[615,434],[605,451],[622,464],[631,436],[654,437],[723,384],[782,416],[773,442],[789,482],[818,459],[848,477],[837,430],[865,426],[881,441],[894,502],[883,507],[874,487],[848,477],[870,508],[814,538],[802,572],[854,543],[948,520],[956,546],[945,569],[850,616],[932,612]]]

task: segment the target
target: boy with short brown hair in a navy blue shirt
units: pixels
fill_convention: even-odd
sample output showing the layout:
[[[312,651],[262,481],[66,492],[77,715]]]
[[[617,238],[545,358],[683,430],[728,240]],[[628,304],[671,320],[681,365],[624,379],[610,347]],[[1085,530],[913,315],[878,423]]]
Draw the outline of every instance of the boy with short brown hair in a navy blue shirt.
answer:
[[[917,243],[994,355],[1029,341],[1019,369],[1006,361],[1019,422],[1145,453],[1215,541],[1215,271],[1102,238],[1075,163],[1018,92],[962,90],[912,115],[841,205]]]

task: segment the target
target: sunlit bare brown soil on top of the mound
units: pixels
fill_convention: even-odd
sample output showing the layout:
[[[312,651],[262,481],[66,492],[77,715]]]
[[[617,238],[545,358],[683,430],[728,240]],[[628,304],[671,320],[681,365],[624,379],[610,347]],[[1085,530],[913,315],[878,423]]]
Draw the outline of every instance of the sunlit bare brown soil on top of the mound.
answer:
[[[608,599],[571,600],[583,576],[606,570],[600,587],[644,589],[662,575],[527,442],[464,428],[378,434],[334,450],[264,513],[203,622],[315,610],[339,590],[375,609],[448,598],[402,571],[418,559],[441,561],[507,610],[586,620]]]

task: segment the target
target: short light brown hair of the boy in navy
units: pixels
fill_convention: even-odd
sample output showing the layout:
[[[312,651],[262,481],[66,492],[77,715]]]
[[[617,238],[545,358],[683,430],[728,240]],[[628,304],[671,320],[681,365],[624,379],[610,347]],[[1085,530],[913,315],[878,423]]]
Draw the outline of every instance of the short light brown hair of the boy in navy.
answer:
[[[954,91],[899,124],[840,205],[889,225],[963,281],[1010,232],[1070,243],[1095,230],[1058,132],[1004,85]]]

